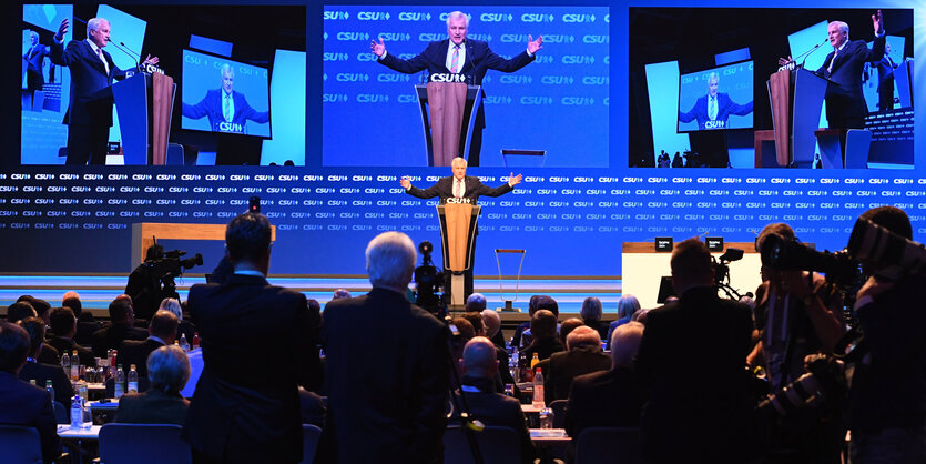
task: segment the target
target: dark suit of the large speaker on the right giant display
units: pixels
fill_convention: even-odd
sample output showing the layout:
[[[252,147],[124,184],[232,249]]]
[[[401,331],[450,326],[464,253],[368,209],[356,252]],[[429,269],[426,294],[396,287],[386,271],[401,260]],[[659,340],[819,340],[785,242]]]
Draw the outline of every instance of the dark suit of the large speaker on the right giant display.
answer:
[[[848,41],[836,54],[832,71],[827,68],[833,61],[833,52],[826,56],[823,65],[816,71],[833,81],[826,85],[826,121],[831,128],[865,127],[868,107],[862,94],[862,69],[865,63],[878,61],[884,57],[885,37],[886,34],[875,38],[871,50],[864,40]]]

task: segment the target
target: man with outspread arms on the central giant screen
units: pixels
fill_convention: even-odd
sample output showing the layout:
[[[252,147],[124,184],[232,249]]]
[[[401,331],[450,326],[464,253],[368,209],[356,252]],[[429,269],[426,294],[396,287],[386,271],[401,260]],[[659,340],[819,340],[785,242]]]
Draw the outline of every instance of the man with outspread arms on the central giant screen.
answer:
[[[543,36],[538,37],[537,40],[528,36],[527,50],[510,60],[506,60],[489,49],[487,42],[467,39],[468,30],[469,17],[460,11],[454,11],[447,14],[447,34],[449,38],[428,43],[425,51],[410,60],[403,60],[389,54],[383,39],[379,39],[379,43],[373,40],[369,49],[376,54],[378,63],[405,74],[414,74],[427,69],[429,74],[464,74],[471,78],[471,84],[481,85],[482,78],[488,70],[515,72],[536,60],[535,53],[543,48]],[[486,92],[482,91],[481,98],[485,97]],[[480,104],[476,113],[476,125],[469,145],[469,162],[475,167],[479,165],[479,152],[482,148],[482,129],[485,127],[486,117]]]

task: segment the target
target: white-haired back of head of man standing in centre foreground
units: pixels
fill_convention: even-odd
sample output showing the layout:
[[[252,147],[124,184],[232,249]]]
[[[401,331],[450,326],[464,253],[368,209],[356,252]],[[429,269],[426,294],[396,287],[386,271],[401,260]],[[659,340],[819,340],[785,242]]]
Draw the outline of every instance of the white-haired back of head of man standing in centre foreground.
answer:
[[[408,235],[401,232],[384,232],[370,240],[366,258],[373,286],[401,289],[411,282],[418,253]]]

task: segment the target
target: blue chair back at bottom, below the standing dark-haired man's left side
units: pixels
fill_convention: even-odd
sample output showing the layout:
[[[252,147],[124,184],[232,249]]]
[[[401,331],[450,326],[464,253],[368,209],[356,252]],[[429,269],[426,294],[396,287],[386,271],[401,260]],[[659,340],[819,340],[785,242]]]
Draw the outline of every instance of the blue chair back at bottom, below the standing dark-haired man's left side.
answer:
[[[174,424],[105,424],[100,427],[101,464],[190,464],[190,445]]]

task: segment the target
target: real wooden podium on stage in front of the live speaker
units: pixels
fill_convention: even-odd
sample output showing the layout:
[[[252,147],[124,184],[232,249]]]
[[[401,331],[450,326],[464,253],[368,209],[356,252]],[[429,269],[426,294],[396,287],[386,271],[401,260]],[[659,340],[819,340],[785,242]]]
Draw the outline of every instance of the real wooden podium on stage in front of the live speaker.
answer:
[[[472,292],[472,255],[476,250],[477,220],[482,206],[470,203],[437,205],[440,219],[440,244],[444,250],[444,269],[450,274],[446,288],[450,292],[450,306],[466,306],[467,291]],[[467,280],[469,282],[467,282]],[[469,289],[467,289],[469,288]]]

